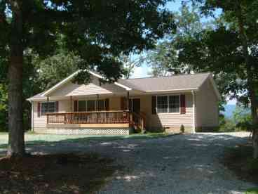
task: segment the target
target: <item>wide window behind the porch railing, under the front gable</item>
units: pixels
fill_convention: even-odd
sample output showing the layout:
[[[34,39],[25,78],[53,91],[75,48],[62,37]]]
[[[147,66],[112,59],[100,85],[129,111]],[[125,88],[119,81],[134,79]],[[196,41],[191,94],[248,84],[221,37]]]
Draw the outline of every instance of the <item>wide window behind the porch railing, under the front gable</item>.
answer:
[[[98,105],[97,105],[98,103]],[[98,106],[98,108],[97,108]],[[95,110],[106,110],[105,101],[104,100],[90,100],[90,101],[79,101],[78,102],[78,111],[95,111]]]

